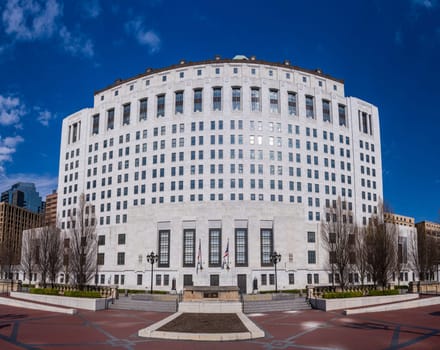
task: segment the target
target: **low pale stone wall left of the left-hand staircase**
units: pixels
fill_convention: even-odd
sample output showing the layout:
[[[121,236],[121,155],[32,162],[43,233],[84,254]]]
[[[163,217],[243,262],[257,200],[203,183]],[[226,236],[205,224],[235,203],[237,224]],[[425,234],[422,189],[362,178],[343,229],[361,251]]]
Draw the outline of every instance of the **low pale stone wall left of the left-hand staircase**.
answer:
[[[40,295],[28,294],[20,292],[11,292],[11,297],[34,302],[59,305],[83,310],[104,310],[106,308],[107,299],[90,299],[90,298],[72,298],[57,295]]]

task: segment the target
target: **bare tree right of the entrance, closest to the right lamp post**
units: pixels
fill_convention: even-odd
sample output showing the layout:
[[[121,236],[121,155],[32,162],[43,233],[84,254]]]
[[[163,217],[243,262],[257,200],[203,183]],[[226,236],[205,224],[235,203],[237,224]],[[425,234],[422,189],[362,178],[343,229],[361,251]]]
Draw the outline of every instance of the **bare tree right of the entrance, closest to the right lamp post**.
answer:
[[[329,268],[333,276],[339,276],[342,288],[347,284],[350,264],[354,264],[354,235],[356,225],[353,215],[347,210],[345,202],[338,198],[337,202],[325,212],[325,221],[321,225],[321,236],[324,248],[329,254]]]

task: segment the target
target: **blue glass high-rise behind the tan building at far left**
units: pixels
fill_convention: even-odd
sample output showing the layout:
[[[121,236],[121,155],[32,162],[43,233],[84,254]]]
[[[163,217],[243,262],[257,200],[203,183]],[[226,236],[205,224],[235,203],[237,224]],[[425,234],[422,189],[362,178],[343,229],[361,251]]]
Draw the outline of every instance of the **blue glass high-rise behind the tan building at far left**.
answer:
[[[2,192],[1,201],[34,213],[43,213],[44,202],[41,201],[34,183],[17,182],[9,190]]]

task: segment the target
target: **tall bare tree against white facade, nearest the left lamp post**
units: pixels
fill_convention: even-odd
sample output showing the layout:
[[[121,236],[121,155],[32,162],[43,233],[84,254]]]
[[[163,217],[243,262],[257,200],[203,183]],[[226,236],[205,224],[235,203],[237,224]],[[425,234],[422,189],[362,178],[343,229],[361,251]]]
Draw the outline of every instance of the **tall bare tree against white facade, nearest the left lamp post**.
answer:
[[[71,229],[67,232],[68,266],[74,284],[82,290],[94,276],[97,263],[94,207],[86,203],[84,194],[81,194],[78,207],[70,218],[70,226]]]

